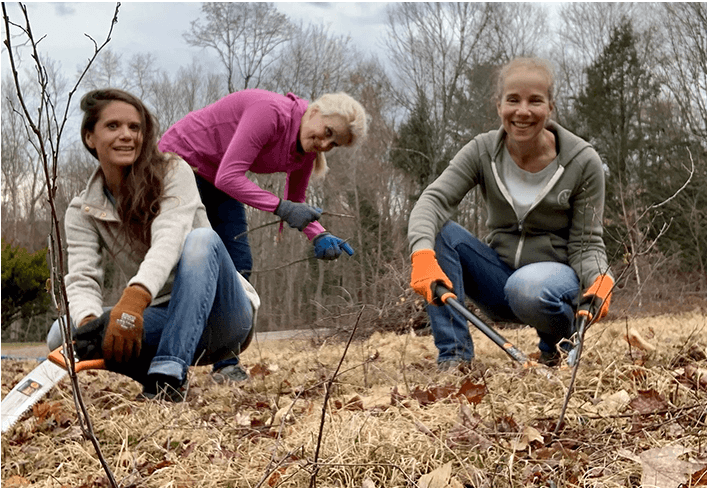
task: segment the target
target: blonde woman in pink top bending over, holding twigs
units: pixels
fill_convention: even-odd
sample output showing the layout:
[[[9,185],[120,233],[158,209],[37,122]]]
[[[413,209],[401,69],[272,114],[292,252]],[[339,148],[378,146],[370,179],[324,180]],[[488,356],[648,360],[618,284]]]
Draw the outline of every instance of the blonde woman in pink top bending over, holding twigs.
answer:
[[[354,253],[317,222],[322,210],[304,203],[305,191],[311,175],[327,171],[324,153],[352,146],[366,133],[364,109],[345,93],[325,94],[309,104],[292,93],[249,89],[190,112],[165,132],[159,148],[176,153],[195,169],[209,222],[236,269],[248,279],[252,258],[245,234],[246,205],[272,212],[302,231],[313,242],[317,258]],[[286,173],[283,198],[249,180],[247,171]],[[219,364],[215,370],[226,372],[230,380],[245,379],[238,359],[231,362],[232,368]]]

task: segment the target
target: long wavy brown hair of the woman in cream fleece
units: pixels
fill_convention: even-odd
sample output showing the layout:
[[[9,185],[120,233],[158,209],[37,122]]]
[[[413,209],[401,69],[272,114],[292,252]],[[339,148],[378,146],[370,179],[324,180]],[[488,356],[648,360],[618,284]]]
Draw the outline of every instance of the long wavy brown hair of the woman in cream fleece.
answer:
[[[95,149],[86,142],[86,135],[94,131],[103,109],[111,102],[125,102],[138,111],[141,120],[143,145],[140,154],[131,166],[124,169],[123,185],[116,199],[120,232],[125,233],[132,248],[137,244],[150,247],[150,226],[160,212],[160,201],[164,192],[168,158],[158,150],[159,127],[157,120],[143,102],[128,92],[116,88],[93,90],[81,99],[84,118],[81,122],[81,141],[94,158]],[[140,248],[139,246],[137,248]]]

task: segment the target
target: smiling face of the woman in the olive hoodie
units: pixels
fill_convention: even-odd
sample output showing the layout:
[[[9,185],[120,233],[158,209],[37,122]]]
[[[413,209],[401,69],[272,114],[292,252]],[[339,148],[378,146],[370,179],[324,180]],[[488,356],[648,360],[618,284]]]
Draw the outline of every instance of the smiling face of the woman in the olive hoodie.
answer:
[[[522,66],[507,74],[497,114],[508,136],[517,143],[539,141],[553,105],[549,79],[540,70]]]

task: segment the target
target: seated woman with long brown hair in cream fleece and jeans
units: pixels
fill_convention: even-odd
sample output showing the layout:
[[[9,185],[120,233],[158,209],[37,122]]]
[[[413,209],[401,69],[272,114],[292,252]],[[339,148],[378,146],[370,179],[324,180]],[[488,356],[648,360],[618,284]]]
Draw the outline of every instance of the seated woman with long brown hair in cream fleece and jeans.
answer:
[[[82,141],[100,165],[65,217],[75,337],[91,343],[95,335],[98,356],[142,383],[145,397],[183,400],[190,365],[246,346],[258,295],[211,229],[190,166],[158,150],[157,123],[143,103],[95,90],[81,110]],[[109,260],[125,283],[110,310],[103,307]],[[55,322],[47,344],[60,343]]]

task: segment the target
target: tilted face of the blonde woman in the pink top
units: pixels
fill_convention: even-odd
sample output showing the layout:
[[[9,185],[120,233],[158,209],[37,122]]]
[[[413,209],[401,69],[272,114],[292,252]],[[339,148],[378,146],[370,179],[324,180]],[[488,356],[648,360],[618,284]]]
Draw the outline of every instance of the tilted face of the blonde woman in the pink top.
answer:
[[[307,110],[303,115],[298,138],[305,153],[327,153],[335,146],[348,146],[352,141],[342,116],[324,116],[317,108]]]

